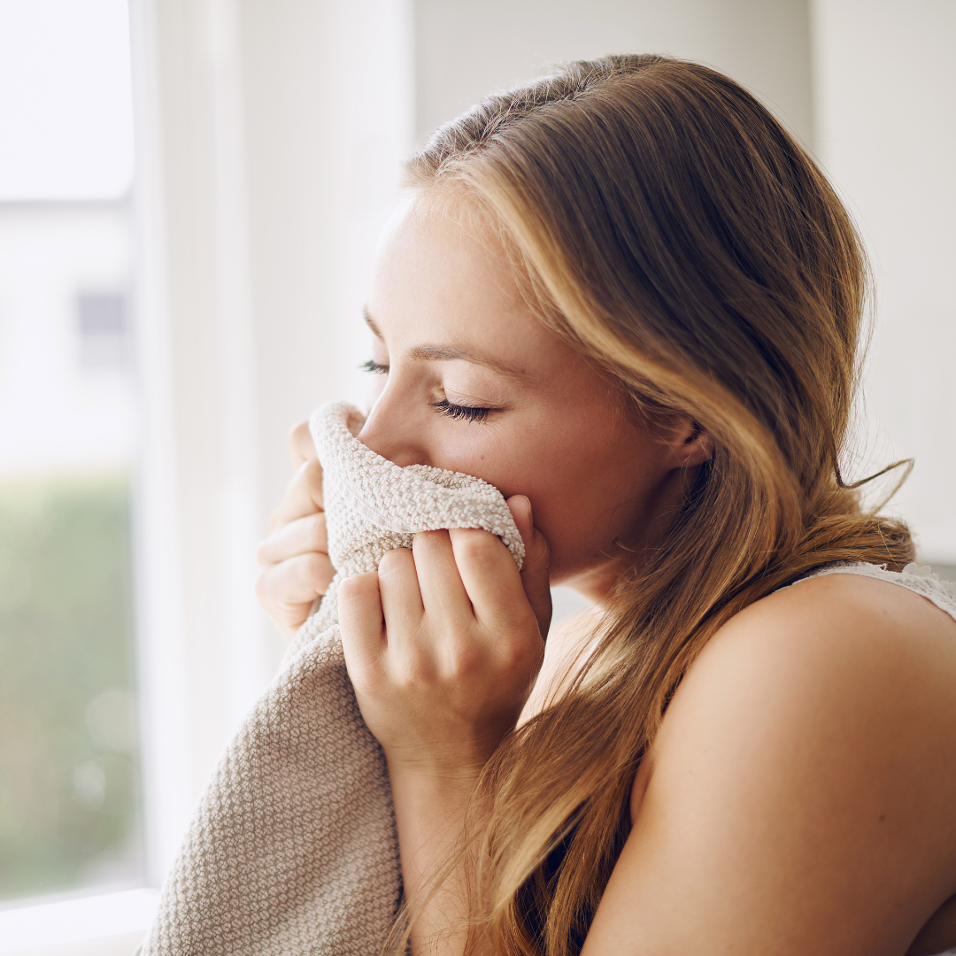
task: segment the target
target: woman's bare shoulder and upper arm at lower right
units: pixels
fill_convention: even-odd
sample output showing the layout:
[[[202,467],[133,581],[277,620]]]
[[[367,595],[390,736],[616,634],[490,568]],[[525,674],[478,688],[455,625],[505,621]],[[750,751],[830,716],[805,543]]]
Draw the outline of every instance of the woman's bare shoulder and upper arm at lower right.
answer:
[[[956,888],[950,632],[848,576],[731,621],[668,708],[586,956],[902,954]]]

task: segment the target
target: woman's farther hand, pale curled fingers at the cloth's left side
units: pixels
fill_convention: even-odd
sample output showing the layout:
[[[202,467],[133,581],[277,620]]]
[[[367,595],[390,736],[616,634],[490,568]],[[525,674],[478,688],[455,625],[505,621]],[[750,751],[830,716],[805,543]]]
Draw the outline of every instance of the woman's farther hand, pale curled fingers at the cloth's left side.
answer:
[[[260,570],[255,582],[255,596],[287,641],[336,574],[325,532],[322,466],[308,423],[293,428],[289,445],[295,476],[272,513],[269,536],[256,549]]]

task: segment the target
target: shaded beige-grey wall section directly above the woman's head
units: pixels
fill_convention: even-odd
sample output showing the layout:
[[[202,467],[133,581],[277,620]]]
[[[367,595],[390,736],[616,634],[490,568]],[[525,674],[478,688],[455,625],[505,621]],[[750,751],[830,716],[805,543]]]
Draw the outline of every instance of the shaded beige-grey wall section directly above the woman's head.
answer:
[[[614,53],[699,59],[813,133],[807,0],[415,0],[416,137],[549,63]]]

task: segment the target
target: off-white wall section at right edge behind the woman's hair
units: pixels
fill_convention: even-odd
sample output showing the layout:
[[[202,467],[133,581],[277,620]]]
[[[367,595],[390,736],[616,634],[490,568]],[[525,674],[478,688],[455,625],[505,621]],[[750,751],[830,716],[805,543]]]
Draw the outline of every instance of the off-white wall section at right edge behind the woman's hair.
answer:
[[[813,12],[817,151],[877,278],[859,474],[914,457],[899,511],[924,558],[956,564],[956,4]]]

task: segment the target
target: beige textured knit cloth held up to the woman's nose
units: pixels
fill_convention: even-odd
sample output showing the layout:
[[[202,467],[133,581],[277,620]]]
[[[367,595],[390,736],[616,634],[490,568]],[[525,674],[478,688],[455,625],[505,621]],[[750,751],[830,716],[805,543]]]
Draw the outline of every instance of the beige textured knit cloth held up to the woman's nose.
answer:
[[[324,405],[329,591],[213,771],[163,885],[142,956],[378,956],[402,892],[388,772],[342,657],[337,590],[415,532],[481,528],[518,567],[521,536],[479,478],[398,467],[355,437],[363,417]]]

